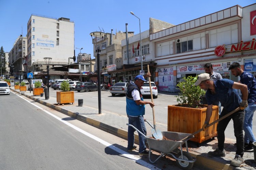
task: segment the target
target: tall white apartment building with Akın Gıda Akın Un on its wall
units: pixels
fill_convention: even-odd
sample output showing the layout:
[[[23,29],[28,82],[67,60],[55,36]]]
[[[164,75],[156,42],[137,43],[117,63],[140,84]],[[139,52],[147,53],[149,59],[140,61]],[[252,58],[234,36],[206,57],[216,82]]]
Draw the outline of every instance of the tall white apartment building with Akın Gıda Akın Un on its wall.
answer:
[[[44,62],[44,57],[51,57],[56,66],[68,64],[69,57],[74,56],[74,22],[70,19],[32,14],[27,31],[27,65],[32,65],[33,70],[38,67],[36,62]]]

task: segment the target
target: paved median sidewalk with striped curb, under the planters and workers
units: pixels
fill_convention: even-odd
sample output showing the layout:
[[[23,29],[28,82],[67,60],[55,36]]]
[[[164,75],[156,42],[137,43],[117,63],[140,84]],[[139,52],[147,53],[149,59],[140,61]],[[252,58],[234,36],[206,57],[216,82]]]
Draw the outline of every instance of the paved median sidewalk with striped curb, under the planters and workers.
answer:
[[[20,92],[19,90],[14,90],[13,87],[10,89],[56,111],[127,140],[128,126],[126,123],[128,123],[128,118],[126,116],[106,111],[102,111],[102,114],[99,115],[97,108],[84,105],[79,107],[77,101],[75,101],[74,104],[57,105],[55,98],[49,97],[49,100],[45,100],[45,97],[33,96],[33,93],[31,92],[30,94],[29,91]],[[153,124],[153,122],[150,123]],[[145,124],[148,134],[150,134],[150,129],[152,128],[146,122]],[[157,129],[167,131],[167,125],[157,124]],[[137,135],[136,139],[136,143],[138,144]],[[198,147],[197,143],[188,141],[189,153],[191,156],[197,158],[197,161],[194,163],[195,167],[200,169],[256,169],[253,152],[244,152],[244,163],[240,168],[230,165],[230,161],[234,158],[236,152],[236,147],[233,145],[233,143],[236,143],[236,140],[233,139],[226,138],[225,140],[225,157],[208,156],[207,153],[209,151],[213,151],[217,148],[217,143],[217,137],[201,143],[200,147]]]

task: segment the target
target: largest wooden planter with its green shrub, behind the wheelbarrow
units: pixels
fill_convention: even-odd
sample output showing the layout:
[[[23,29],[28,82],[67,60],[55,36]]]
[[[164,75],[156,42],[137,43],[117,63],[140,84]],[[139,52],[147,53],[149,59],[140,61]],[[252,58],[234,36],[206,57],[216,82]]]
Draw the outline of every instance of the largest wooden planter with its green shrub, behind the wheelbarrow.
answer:
[[[202,128],[207,105],[201,105],[200,99],[205,91],[195,86],[197,76],[188,76],[184,81],[177,84],[180,88],[177,97],[177,105],[168,106],[168,131],[180,133],[194,133]],[[218,106],[213,106],[213,114],[210,123],[218,119]],[[190,139],[201,143],[217,135],[217,124],[210,126],[206,131],[201,131]]]

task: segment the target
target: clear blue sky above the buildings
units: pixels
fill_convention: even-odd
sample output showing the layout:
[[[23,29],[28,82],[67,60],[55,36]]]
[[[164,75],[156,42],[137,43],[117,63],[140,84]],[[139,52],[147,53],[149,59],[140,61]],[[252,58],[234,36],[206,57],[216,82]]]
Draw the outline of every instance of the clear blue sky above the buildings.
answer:
[[[180,24],[205,16],[225,8],[240,5],[242,7],[256,3],[255,0],[0,0],[1,26],[0,47],[9,52],[15,40],[22,33],[27,34],[27,22],[31,14],[54,18],[70,18],[75,23],[75,47],[82,53],[93,54],[93,45],[89,33],[100,31],[110,33],[113,29],[139,33],[139,19],[131,15],[132,11],[141,21],[141,32],[149,29],[149,18],[159,19],[172,24]],[[100,27],[100,29],[99,29]],[[76,55],[79,50],[76,49]],[[92,58],[93,55],[91,55]]]

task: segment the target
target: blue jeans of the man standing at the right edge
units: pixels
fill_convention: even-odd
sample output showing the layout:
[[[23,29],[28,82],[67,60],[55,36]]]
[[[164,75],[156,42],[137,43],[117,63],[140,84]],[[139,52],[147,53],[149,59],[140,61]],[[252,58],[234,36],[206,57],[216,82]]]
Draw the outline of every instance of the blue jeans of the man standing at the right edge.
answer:
[[[245,108],[244,116],[244,143],[255,142],[253,135],[253,114],[256,111],[256,103],[248,103],[248,107]]]

